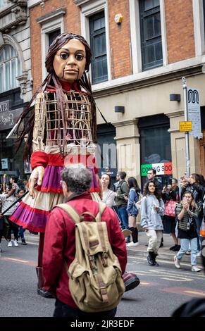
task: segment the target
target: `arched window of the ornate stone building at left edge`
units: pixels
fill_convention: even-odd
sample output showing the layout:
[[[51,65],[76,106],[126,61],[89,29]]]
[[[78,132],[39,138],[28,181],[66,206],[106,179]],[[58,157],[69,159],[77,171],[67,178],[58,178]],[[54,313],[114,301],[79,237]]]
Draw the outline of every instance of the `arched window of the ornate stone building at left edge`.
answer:
[[[0,50],[0,93],[18,87],[16,77],[20,75],[20,61],[17,51],[6,44]]]

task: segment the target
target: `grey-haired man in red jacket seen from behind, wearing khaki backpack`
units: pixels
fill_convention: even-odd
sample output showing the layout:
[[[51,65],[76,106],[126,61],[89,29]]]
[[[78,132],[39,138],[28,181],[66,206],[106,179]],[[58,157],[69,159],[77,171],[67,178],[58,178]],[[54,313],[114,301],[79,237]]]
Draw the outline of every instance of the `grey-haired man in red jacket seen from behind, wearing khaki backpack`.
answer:
[[[44,239],[44,288],[56,297],[55,317],[112,318],[125,291],[125,239],[116,214],[92,201],[92,173],[61,173],[66,204],[51,211]]]

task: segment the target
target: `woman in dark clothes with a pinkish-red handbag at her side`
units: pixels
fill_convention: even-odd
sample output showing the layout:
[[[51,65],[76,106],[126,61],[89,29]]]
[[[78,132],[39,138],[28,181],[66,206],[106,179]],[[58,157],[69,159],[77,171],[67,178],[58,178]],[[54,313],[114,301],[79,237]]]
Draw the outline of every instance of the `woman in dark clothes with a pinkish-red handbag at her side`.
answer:
[[[180,241],[175,235],[175,206],[179,202],[179,187],[178,180],[172,179],[171,185],[163,187],[162,198],[165,203],[163,216],[163,232],[168,233],[173,237],[174,246],[170,247],[170,251],[180,250]]]

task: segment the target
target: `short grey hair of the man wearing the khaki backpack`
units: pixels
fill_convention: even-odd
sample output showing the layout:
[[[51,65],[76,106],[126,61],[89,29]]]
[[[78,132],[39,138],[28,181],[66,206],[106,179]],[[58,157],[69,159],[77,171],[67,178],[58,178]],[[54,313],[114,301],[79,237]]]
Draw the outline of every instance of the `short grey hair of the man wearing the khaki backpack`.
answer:
[[[68,190],[77,194],[89,191],[92,183],[92,173],[85,165],[73,164],[61,171],[61,178],[66,182]]]

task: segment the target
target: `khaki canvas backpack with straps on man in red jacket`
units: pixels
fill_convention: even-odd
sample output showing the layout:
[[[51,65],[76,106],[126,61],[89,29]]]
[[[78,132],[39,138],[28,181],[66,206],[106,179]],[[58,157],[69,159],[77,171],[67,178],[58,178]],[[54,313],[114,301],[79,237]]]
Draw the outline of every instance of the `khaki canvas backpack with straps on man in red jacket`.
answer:
[[[75,258],[69,268],[64,262],[75,304],[87,313],[115,308],[125,292],[125,285],[120,263],[108,241],[106,222],[101,222],[106,205],[99,203],[97,216],[88,211],[79,215],[69,204],[56,207],[66,211],[75,223]],[[92,221],[85,221],[84,215],[92,216]]]

